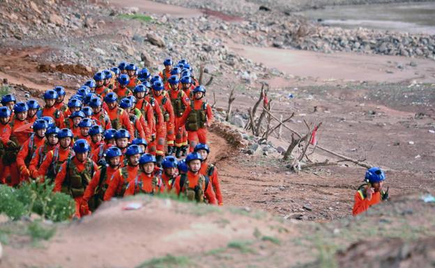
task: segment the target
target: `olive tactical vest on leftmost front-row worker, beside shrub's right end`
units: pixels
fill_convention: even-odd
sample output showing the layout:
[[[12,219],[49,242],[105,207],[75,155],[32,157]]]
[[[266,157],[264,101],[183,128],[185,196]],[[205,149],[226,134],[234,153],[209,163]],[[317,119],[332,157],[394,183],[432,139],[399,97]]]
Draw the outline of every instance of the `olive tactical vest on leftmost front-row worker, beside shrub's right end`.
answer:
[[[82,172],[79,172],[77,166],[72,161],[73,157],[68,158],[66,162],[66,175],[67,175],[67,185],[68,193],[73,196],[73,198],[83,196],[84,190],[88,186],[89,182],[92,180],[93,176],[93,161],[91,159],[86,159],[85,168]]]

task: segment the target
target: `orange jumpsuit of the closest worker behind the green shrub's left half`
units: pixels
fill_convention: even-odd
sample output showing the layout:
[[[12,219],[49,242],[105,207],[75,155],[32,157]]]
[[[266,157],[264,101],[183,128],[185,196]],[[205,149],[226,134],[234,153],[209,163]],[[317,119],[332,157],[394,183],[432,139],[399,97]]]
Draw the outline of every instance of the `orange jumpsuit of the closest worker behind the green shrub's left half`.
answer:
[[[30,138],[21,146],[20,152],[17,155],[17,166],[20,171],[20,181],[29,180],[30,171],[27,166],[30,164],[33,153],[36,152],[36,148],[43,145],[45,142],[45,136],[40,138],[36,134],[32,134]],[[33,146],[29,148],[29,143],[33,143]]]

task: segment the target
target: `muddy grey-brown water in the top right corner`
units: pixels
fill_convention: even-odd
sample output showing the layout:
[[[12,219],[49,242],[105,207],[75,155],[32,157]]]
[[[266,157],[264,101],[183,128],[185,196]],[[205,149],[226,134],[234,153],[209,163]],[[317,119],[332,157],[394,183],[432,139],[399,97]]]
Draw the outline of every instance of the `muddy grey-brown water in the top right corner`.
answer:
[[[330,26],[435,34],[435,1],[328,6],[298,14]]]

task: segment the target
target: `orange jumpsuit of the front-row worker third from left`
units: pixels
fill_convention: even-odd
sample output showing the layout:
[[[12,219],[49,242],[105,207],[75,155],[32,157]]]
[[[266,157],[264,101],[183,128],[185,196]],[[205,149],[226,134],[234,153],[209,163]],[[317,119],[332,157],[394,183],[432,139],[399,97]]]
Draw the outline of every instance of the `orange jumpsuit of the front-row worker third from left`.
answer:
[[[124,177],[123,172],[127,171],[127,178]],[[107,187],[104,200],[108,201],[112,199],[113,196],[123,196],[124,195],[124,187],[127,187],[128,182],[130,180],[135,180],[137,171],[139,171],[139,165],[137,166],[125,166],[118,170],[118,172],[112,175],[112,178],[109,182],[109,187]]]

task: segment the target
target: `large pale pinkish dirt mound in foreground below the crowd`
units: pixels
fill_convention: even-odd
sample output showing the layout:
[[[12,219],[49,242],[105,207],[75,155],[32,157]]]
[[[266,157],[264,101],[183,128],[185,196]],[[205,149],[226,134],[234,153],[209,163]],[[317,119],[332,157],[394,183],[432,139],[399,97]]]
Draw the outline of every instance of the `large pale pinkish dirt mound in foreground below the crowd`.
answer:
[[[132,203],[142,207],[126,210]],[[258,232],[280,236],[280,228],[270,226],[282,223],[266,212],[137,196],[105,203],[92,216],[59,227],[42,247],[23,246],[17,251],[12,242],[1,265],[136,267],[167,253],[191,255],[227,246],[234,239],[255,239]]]

